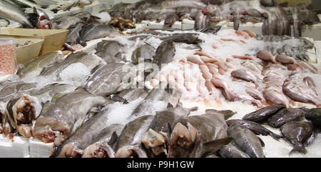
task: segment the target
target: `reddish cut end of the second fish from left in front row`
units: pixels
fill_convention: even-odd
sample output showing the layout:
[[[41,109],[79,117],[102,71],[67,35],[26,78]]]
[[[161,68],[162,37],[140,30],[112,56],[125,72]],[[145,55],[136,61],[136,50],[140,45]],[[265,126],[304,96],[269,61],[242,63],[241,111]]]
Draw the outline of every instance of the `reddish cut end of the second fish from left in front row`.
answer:
[[[55,118],[40,116],[32,130],[34,138],[44,143],[54,143],[61,145],[66,140],[69,133],[68,124],[63,121],[57,121]]]

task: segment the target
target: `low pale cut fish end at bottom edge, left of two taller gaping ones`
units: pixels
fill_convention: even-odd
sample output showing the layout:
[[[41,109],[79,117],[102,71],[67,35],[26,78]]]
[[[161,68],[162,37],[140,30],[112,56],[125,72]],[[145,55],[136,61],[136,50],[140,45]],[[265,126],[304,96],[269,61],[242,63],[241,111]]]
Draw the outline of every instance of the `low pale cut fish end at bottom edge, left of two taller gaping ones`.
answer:
[[[118,149],[115,158],[147,158],[146,152],[140,146],[123,146]]]

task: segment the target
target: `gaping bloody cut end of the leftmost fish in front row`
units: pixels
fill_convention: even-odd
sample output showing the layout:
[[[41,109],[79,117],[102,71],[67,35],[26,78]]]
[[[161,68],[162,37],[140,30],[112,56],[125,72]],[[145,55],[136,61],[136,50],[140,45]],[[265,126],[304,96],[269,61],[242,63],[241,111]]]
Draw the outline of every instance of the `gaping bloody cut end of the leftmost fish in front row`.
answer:
[[[42,102],[39,98],[24,94],[21,98],[12,99],[6,105],[6,114],[12,128],[16,129],[22,136],[32,137],[32,126],[39,117]]]

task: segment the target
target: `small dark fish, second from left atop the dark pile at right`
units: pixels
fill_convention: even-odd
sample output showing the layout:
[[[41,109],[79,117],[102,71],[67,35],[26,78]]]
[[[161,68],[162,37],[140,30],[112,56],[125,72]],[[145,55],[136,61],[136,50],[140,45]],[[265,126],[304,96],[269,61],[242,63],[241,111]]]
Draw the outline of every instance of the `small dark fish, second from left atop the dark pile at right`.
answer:
[[[299,121],[307,113],[302,108],[283,108],[269,118],[269,126],[280,127],[291,121]]]

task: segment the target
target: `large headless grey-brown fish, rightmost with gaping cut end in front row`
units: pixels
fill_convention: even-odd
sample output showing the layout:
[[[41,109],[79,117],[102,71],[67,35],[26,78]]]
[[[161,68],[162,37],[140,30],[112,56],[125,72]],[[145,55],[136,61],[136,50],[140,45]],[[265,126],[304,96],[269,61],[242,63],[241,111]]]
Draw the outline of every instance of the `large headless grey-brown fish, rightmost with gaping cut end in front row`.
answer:
[[[168,157],[198,158],[218,151],[230,143],[225,116],[233,111],[206,111],[200,116],[181,117],[174,121],[168,146]]]

